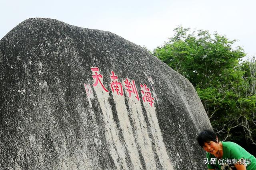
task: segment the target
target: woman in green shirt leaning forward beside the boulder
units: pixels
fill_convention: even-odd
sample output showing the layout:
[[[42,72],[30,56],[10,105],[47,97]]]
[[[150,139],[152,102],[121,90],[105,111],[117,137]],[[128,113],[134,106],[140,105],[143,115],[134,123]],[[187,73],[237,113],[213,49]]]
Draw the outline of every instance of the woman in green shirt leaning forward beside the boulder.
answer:
[[[208,170],[256,170],[256,158],[233,142],[220,142],[214,131],[204,130],[197,136],[206,150]]]

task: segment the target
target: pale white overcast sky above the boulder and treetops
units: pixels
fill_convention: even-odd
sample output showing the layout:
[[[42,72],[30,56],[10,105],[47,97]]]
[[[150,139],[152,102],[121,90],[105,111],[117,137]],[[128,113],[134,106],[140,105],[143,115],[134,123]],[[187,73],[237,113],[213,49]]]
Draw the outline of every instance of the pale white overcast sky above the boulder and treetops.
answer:
[[[150,50],[183,25],[238,39],[236,46],[256,54],[255,0],[0,0],[0,39],[36,17],[110,31]]]

